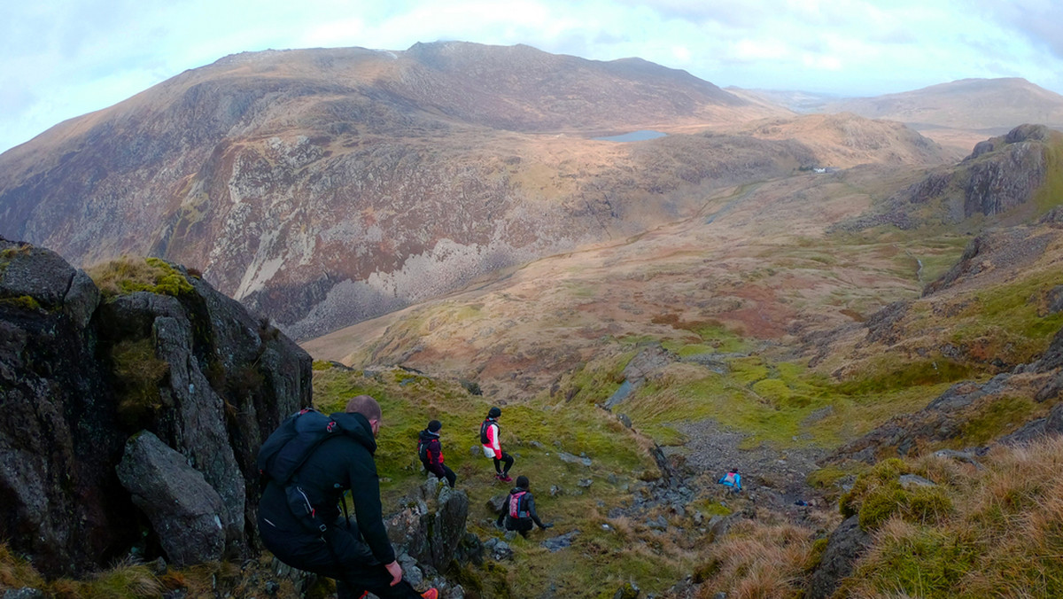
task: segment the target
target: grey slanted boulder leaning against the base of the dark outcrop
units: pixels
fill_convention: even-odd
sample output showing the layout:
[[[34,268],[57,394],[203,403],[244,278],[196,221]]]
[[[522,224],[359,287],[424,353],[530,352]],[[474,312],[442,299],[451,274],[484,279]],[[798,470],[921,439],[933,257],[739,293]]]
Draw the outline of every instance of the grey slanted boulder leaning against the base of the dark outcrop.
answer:
[[[182,568],[221,559],[225,505],[182,454],[145,431],[125,444],[118,480],[148,516],[171,564]]]

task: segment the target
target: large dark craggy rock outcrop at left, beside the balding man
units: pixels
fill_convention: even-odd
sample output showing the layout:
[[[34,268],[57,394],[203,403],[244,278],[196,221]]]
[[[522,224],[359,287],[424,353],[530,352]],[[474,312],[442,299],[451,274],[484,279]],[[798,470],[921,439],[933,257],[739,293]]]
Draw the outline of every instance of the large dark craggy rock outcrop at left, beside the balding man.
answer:
[[[101,302],[91,280],[54,252],[0,239],[0,537],[46,576],[108,565],[141,539],[141,526],[156,528],[149,538],[166,536],[150,517],[165,511],[165,494],[126,490],[116,473],[134,435],[159,444],[133,455],[169,448],[167,469],[180,454],[220,500],[219,536],[198,554],[238,555],[253,543],[254,456],[286,415],[309,404],[310,359],[239,303],[183,277],[191,290],[178,297]],[[161,375],[129,373],[149,367]],[[142,461],[130,460],[126,475]],[[189,510],[213,517],[202,504]],[[165,542],[145,549],[191,559]]]

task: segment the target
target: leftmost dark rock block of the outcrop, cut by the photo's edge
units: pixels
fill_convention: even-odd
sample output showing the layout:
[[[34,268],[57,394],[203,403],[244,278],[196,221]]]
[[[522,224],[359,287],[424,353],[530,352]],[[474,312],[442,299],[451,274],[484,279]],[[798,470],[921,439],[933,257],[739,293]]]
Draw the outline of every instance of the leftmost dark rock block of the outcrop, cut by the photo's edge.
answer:
[[[46,576],[106,564],[138,537],[114,471],[126,434],[83,317],[99,295],[75,274],[54,252],[0,239],[0,538]]]

